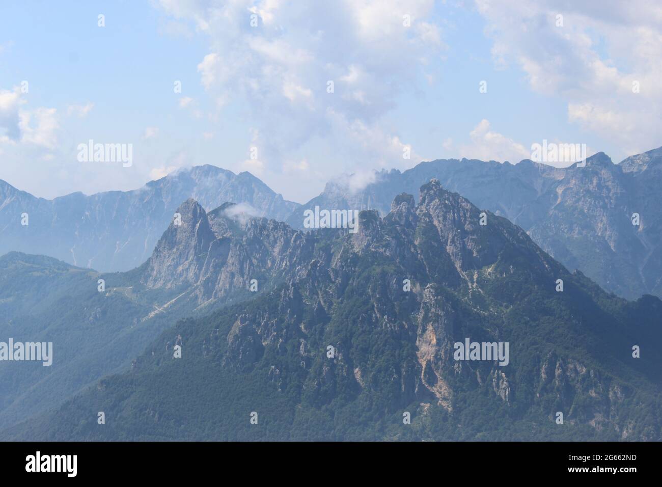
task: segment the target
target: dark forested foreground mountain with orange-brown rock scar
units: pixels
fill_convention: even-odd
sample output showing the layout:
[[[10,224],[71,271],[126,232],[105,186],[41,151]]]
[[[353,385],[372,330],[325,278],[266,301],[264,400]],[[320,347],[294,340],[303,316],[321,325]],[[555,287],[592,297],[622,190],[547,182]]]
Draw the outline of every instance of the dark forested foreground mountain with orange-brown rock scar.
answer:
[[[167,252],[194,264],[154,258],[140,273],[168,286],[148,270],[163,265],[172,285],[206,282],[207,262],[226,252],[192,249],[230,226],[189,227],[197,246]],[[279,228],[254,260],[287,274],[271,290],[178,321],[130,370],[3,437],[662,439],[660,299],[604,292],[437,180],[418,205],[400,194],[383,218],[362,211],[356,233]],[[157,249],[177,241],[169,229]],[[508,352],[464,360],[465,341]]]

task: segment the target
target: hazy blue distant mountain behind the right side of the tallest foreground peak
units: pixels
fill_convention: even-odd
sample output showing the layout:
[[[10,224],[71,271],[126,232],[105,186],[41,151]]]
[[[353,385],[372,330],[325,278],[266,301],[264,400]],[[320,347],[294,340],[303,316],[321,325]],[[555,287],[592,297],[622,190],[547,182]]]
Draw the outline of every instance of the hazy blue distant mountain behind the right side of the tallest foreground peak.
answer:
[[[417,194],[431,178],[482,209],[508,218],[567,268],[578,268],[604,289],[628,299],[662,297],[662,148],[620,164],[598,152],[585,167],[553,168],[479,160],[422,162],[404,172],[375,173],[375,181],[355,189],[351,181],[330,182],[322,194],[286,220],[303,227],[303,212],[314,209],[389,211],[401,193]],[[639,225],[633,225],[634,213]]]

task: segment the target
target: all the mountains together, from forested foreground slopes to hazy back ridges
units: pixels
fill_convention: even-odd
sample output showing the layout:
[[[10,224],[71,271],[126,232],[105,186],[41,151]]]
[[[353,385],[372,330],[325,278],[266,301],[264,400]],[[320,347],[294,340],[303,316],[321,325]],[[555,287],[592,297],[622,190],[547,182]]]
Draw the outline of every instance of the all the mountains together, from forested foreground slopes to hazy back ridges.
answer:
[[[661,160],[438,160],[305,205],[214,166],[0,182],[0,342],[54,349],[0,362],[0,437],[662,439]],[[315,207],[358,227],[303,229]]]

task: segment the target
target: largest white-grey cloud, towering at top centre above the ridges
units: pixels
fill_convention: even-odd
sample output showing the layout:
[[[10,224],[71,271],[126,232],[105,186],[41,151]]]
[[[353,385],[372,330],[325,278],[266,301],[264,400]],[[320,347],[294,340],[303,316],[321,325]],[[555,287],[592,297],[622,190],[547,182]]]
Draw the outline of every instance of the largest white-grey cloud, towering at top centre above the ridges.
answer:
[[[416,157],[403,161],[404,142],[385,115],[446,48],[442,32],[427,19],[433,0],[160,5],[207,36],[209,52],[197,70],[216,108],[236,101],[259,129],[260,158],[245,161],[244,168],[275,176],[288,161],[306,158],[301,151],[309,144],[348,154],[335,167],[308,158],[318,175],[350,170],[356,160],[367,167],[408,166]],[[250,26],[251,13],[258,15],[258,27]],[[411,27],[403,25],[404,15]]]

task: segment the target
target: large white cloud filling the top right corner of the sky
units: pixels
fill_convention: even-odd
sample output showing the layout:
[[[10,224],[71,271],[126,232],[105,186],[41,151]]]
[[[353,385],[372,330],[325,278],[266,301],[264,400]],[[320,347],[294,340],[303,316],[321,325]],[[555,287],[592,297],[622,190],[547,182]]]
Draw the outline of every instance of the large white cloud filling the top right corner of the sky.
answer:
[[[497,64],[560,96],[568,119],[627,152],[659,146],[662,5],[657,0],[475,0]],[[557,27],[557,15],[563,27]],[[639,93],[633,93],[638,81]]]

